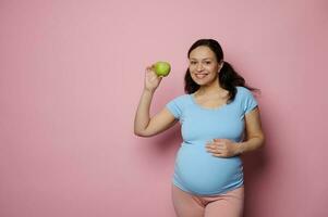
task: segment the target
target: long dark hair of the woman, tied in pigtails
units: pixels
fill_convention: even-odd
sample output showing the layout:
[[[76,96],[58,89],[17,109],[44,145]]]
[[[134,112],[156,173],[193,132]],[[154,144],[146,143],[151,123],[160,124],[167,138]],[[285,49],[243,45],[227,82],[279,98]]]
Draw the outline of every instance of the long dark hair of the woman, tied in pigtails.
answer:
[[[196,42],[192,44],[187,52],[187,58],[190,58],[191,52],[199,47],[199,46],[206,46],[208,47],[217,58],[218,63],[223,60],[223,51],[221,46],[218,41],[214,39],[199,39]],[[221,71],[218,74],[219,76],[219,85],[223,89],[229,91],[229,99],[228,103],[232,102],[234,100],[234,97],[236,94],[236,86],[245,87],[251,91],[258,91],[258,89],[250,87],[245,84],[245,79],[239,75],[232,67],[232,65],[228,62],[223,62],[223,66]],[[185,76],[184,76],[184,91],[185,93],[194,93],[199,89],[199,85],[197,85],[189,71],[186,69]]]

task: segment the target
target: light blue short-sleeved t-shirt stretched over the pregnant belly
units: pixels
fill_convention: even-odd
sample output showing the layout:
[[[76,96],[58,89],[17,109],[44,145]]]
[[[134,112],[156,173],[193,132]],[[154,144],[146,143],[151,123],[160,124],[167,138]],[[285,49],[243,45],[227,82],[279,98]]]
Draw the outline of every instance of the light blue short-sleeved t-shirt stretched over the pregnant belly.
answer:
[[[173,183],[197,195],[217,195],[243,186],[243,164],[240,156],[217,157],[206,151],[212,139],[241,142],[244,116],[257,106],[252,92],[236,87],[234,100],[217,108],[197,104],[194,94],[183,94],[167,103],[179,119],[183,142],[177,153]]]

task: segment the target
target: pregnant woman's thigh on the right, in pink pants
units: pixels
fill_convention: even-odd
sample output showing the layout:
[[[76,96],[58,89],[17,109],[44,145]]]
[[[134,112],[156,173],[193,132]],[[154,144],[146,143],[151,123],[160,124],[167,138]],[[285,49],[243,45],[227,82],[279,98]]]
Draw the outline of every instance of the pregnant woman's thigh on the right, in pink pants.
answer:
[[[212,197],[205,207],[205,217],[242,217],[244,209],[244,187]]]

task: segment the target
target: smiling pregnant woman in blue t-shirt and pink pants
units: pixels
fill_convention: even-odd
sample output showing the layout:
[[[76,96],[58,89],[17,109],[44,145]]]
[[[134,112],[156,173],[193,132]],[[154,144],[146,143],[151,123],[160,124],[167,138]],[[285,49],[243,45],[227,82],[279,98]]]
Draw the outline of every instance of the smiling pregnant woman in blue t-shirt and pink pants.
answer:
[[[185,94],[151,118],[150,102],[162,77],[146,68],[134,132],[151,137],[180,123],[183,142],[172,178],[178,217],[241,217],[244,205],[242,153],[264,145],[253,88],[223,61],[214,39],[194,42],[187,52]]]

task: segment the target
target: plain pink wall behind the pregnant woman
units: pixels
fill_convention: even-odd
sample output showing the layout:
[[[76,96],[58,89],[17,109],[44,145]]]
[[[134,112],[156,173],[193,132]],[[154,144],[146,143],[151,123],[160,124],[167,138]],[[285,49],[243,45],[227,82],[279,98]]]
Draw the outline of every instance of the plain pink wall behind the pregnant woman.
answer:
[[[246,217],[328,216],[328,2],[0,1],[0,216],[174,216],[179,125],[133,135],[144,69],[217,39],[262,90],[267,145],[245,159]]]

